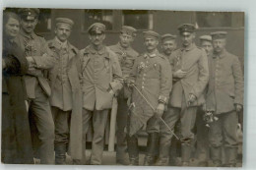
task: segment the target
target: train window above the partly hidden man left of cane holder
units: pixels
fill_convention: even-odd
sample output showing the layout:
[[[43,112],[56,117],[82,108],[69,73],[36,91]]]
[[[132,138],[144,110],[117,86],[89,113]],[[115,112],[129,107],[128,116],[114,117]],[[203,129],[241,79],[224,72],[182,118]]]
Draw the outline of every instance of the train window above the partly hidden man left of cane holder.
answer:
[[[152,29],[153,14],[147,10],[123,10],[122,23],[137,29]]]

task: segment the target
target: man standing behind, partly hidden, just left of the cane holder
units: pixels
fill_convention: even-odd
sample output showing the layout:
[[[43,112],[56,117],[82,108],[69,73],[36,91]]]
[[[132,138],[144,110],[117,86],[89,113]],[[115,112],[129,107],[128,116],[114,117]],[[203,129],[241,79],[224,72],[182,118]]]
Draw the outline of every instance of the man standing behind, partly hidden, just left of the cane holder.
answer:
[[[122,69],[122,74],[124,82],[130,75],[133,68],[134,61],[138,57],[138,53],[132,48],[131,43],[134,41],[136,36],[136,29],[123,26],[120,35],[119,42],[109,48],[116,53],[118,56],[119,64]],[[129,157],[126,152],[127,150],[127,140],[126,133],[124,129],[127,125],[128,119],[128,105],[127,100],[131,95],[130,88],[127,84],[124,84],[123,88],[118,94],[118,108],[117,108],[117,141],[116,141],[116,162],[124,165],[129,164]]]

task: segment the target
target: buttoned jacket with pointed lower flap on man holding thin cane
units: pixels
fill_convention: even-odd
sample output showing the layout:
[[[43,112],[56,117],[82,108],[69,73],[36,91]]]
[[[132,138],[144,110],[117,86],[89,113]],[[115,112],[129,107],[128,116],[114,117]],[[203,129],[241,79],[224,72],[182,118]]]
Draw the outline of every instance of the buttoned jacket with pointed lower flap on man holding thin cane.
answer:
[[[171,89],[171,77],[170,65],[158,50],[153,54],[143,53],[136,59],[130,74],[131,81],[137,87],[137,89],[133,87],[132,92],[134,108],[130,116],[132,122],[129,127],[130,136],[136,134],[155,115],[160,102],[167,103]]]

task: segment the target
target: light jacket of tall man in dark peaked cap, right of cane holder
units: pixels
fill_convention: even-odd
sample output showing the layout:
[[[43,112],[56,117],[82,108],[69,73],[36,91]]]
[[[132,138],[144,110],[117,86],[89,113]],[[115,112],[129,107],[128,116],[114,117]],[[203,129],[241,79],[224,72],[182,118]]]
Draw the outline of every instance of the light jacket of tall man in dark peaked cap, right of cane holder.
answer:
[[[170,105],[181,107],[183,94],[186,103],[189,94],[194,94],[197,100],[191,106],[199,106],[205,102],[203,91],[209,81],[208,58],[206,52],[193,44],[190,48],[180,48],[172,52],[170,64],[173,73],[177,70],[187,72],[182,79],[175,81],[170,94]]]

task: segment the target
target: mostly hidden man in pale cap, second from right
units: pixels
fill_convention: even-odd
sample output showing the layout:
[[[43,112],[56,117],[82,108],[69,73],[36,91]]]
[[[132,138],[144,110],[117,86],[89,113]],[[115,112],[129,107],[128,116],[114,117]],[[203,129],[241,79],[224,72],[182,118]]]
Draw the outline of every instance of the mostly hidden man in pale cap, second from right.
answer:
[[[206,51],[209,63],[209,73],[211,73],[211,62],[213,54],[213,44],[211,35],[202,35],[199,37],[200,46]],[[199,107],[196,118],[196,130],[197,130],[197,150],[196,155],[199,160],[198,166],[208,166],[209,157],[209,142],[208,142],[208,128],[203,120],[205,114],[204,107]]]

